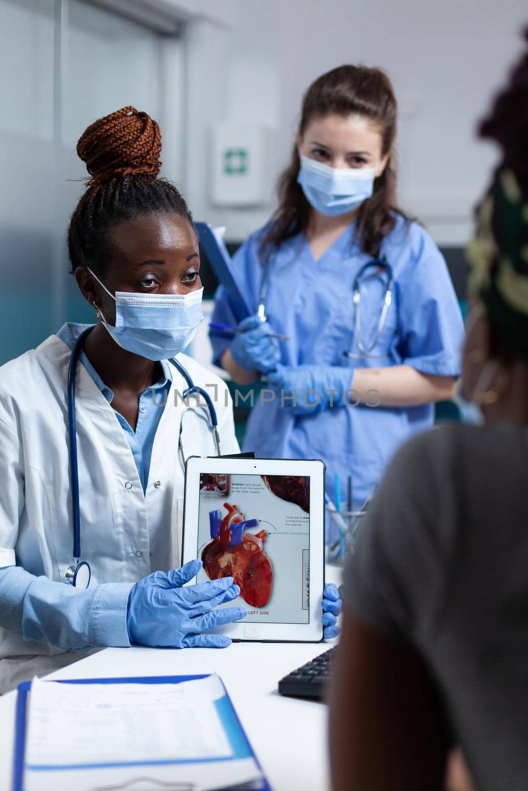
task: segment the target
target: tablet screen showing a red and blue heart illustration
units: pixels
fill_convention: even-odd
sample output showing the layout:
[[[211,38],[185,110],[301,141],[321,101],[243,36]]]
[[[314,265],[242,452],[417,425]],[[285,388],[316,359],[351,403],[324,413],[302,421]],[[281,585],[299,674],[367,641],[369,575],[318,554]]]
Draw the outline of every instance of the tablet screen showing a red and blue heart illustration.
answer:
[[[234,577],[244,623],[309,623],[310,476],[199,476],[197,582]]]

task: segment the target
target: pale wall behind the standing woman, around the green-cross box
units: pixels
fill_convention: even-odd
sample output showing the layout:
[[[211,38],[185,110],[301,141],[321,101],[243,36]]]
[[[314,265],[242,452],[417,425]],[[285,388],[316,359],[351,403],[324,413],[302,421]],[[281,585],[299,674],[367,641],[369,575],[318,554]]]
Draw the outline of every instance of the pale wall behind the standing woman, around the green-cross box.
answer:
[[[495,158],[491,146],[475,141],[475,124],[519,54],[526,0],[243,0],[233,11],[231,27],[191,25],[190,46],[200,51],[189,53],[186,183],[196,218],[227,225],[228,237],[241,239],[272,210],[271,203],[234,210],[209,202],[215,119],[276,127],[275,180],[310,81],[342,63],[363,62],[388,72],[399,100],[402,206],[439,242],[464,243]]]

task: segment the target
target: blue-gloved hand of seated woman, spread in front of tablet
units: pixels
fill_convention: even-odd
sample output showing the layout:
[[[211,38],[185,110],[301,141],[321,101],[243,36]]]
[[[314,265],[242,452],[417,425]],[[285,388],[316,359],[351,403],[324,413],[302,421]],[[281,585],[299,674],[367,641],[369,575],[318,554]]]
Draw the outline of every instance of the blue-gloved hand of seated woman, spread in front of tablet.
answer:
[[[136,582],[128,595],[127,630],[130,642],[166,648],[226,648],[231,639],[224,634],[202,634],[214,626],[245,618],[243,607],[218,604],[236,599],[240,593],[233,577],[189,585],[202,566],[199,560],[185,563],[167,573],[155,571]]]

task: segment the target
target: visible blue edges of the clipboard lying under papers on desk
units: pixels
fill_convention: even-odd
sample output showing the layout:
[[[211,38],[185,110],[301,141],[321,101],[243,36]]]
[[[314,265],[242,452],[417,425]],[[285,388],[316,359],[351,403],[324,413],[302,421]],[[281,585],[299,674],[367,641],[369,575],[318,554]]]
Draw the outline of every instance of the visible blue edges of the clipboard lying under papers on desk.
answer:
[[[211,674],[205,673],[199,676],[129,676],[127,678],[108,678],[108,679],[57,679],[55,682],[47,683],[65,683],[65,684],[178,684],[183,681],[195,681],[197,679],[207,679]],[[233,749],[232,759],[239,758],[253,758],[257,768],[262,774],[262,781],[260,784],[251,784],[251,791],[272,791],[268,780],[264,776],[262,767],[259,760],[253,752],[253,747],[249,744],[248,737],[245,735],[245,730],[241,725],[237,712],[234,709],[231,698],[226,690],[226,687],[220,679],[224,689],[224,697],[220,698],[217,706],[217,713],[222,721],[222,726],[226,732],[231,747]],[[19,684],[17,690],[17,707],[15,713],[15,740],[13,751],[13,784],[12,791],[22,791],[24,780],[24,764],[25,764],[25,732],[28,714],[28,693],[31,690],[31,681],[25,681]],[[206,759],[207,760],[207,759]],[[188,762],[194,763],[194,762]],[[175,762],[175,765],[177,762]],[[177,785],[177,782],[175,782]],[[240,786],[237,786],[237,789]],[[227,789],[226,789],[227,791]],[[243,791],[243,789],[241,789]]]

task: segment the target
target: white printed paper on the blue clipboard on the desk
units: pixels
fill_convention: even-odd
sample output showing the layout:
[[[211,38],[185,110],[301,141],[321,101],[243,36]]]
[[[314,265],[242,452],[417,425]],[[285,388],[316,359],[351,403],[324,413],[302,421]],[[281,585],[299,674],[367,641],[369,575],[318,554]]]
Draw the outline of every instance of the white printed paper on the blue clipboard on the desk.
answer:
[[[180,684],[34,681],[29,766],[128,763],[233,755],[209,679]],[[223,694],[223,690],[222,690]]]

